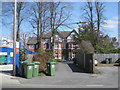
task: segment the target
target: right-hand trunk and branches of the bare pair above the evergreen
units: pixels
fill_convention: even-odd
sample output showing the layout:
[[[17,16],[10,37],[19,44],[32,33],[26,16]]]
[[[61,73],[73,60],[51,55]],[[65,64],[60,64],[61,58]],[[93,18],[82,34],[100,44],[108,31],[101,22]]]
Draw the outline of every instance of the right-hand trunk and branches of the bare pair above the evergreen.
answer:
[[[97,30],[100,31],[100,26],[103,23],[104,18],[104,8],[105,5],[103,2],[95,2],[96,14],[97,14]]]

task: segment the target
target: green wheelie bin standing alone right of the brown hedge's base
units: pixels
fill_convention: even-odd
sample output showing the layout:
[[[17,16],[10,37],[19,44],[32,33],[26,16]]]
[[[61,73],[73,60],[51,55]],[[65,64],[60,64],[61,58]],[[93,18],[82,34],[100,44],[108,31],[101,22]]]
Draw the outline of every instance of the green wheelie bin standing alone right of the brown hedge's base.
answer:
[[[47,71],[50,76],[55,75],[55,64],[56,62],[47,62]]]

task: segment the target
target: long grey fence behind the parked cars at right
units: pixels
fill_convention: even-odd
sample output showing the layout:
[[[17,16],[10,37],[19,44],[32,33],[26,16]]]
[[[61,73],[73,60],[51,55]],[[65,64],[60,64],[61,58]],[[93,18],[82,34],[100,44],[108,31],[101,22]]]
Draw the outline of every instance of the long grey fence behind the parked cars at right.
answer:
[[[120,58],[120,54],[94,54],[94,59],[97,59],[99,63],[104,61],[105,58],[112,58],[112,62],[115,62]]]

